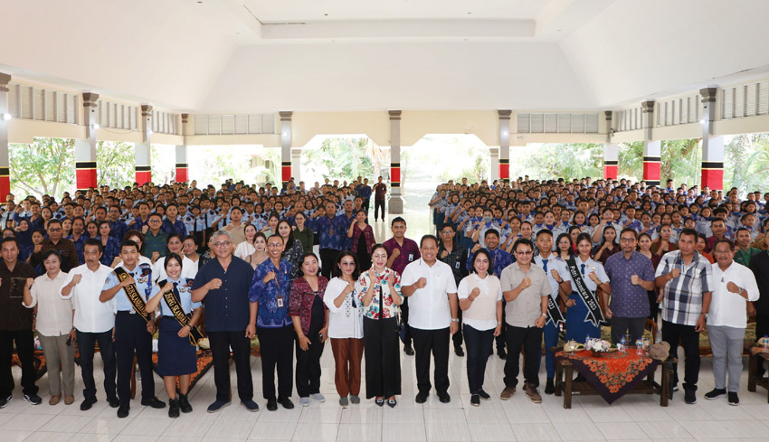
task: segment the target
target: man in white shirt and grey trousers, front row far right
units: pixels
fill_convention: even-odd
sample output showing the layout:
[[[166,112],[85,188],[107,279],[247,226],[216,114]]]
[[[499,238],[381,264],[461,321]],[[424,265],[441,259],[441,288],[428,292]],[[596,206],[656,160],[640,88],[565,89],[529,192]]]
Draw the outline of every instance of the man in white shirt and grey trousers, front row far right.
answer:
[[[713,349],[713,377],[716,388],[705,394],[715,400],[727,394],[729,405],[739,405],[737,390],[742,374],[743,340],[745,339],[746,303],[758,299],[758,285],[753,272],[734,261],[735,244],[718,240],[713,248],[713,297],[707,313],[707,335]],[[726,361],[729,385],[726,390]]]

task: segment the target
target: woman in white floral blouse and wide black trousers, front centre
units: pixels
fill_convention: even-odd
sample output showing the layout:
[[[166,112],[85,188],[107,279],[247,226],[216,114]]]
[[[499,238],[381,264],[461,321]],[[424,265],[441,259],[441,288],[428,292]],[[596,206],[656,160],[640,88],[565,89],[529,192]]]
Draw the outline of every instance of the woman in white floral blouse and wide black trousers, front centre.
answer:
[[[363,307],[364,355],[366,357],[366,398],[391,408],[401,394],[401,355],[398,337],[398,311],[403,303],[401,276],[386,268],[387,249],[376,244],[371,249],[372,268],[356,283],[356,294]]]

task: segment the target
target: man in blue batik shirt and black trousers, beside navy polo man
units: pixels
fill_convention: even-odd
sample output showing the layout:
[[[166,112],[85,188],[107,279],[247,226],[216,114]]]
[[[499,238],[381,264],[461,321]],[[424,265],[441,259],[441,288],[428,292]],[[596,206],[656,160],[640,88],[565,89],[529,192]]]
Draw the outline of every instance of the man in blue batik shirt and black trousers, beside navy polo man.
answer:
[[[261,352],[261,390],[267,409],[275,411],[278,403],[293,409],[294,330],[289,315],[291,266],[280,259],[283,239],[272,235],[267,240],[270,257],[253,273],[249,300],[257,305],[256,330]],[[261,308],[260,308],[261,307]],[[278,369],[278,396],[275,396],[275,369]]]

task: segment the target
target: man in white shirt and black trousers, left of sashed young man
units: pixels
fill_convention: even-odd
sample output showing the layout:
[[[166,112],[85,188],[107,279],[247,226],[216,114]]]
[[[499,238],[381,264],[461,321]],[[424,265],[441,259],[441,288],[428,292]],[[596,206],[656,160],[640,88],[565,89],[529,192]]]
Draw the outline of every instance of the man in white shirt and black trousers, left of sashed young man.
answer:
[[[101,287],[112,268],[99,262],[103,248],[100,240],[86,240],[83,246],[85,264],[72,268],[62,286],[62,298],[72,298],[75,308],[73,324],[78,334],[80,365],[83,379],[83,401],[85,411],[96,403],[96,383],[93,381],[93,352],[99,343],[101,362],[104,363],[104,391],[109,406],[120,404],[115,386],[117,365],[115,349],[112,346],[112,328],[115,326],[115,302],[102,303],[99,300]]]

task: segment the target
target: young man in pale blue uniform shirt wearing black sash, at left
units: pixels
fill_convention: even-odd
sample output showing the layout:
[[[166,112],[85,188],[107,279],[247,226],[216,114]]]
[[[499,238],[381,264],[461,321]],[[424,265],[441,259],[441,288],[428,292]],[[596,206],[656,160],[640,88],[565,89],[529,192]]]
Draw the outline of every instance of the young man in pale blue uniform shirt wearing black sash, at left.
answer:
[[[154,314],[138,310],[128,298],[133,287],[138,292],[139,303],[145,306],[152,293],[152,268],[149,264],[138,264],[138,244],[123,241],[120,258],[123,265],[109,273],[99,300],[103,303],[112,298],[117,301],[118,314],[115,316],[115,353],[118,360],[118,418],[128,418],[131,401],[131,369],[134,355],[141,371],[141,404],[153,409],[162,409],[166,403],[155,397],[155,381],[152,373],[152,334],[155,332]],[[128,277],[119,280],[119,273]],[[117,296],[117,297],[116,297]]]

